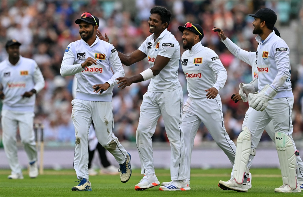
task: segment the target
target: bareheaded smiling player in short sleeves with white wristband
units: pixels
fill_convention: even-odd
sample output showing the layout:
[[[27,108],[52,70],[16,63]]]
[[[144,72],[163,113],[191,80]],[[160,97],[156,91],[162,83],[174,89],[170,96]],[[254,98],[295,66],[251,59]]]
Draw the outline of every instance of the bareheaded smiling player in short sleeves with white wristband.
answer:
[[[171,11],[156,6],[151,9],[148,20],[149,32],[143,44],[130,55],[119,52],[122,64],[129,66],[148,57],[150,68],[133,77],[119,77],[121,89],[133,83],[151,79],[143,96],[137,129],[137,148],[141,161],[143,179],[135,190],[158,186],[155,176],[151,136],[155,133],[158,118],[162,115],[166,134],[171,145],[171,182],[159,190],[189,190],[185,175],[184,134],[182,130],[183,93],[178,80],[180,46],[171,32],[167,31]],[[108,40],[107,36],[103,38]]]

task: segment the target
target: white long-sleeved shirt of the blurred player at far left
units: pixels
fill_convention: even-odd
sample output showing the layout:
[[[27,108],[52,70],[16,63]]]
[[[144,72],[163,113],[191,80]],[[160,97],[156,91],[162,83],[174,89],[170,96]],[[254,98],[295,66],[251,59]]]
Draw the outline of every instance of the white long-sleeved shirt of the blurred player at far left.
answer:
[[[3,110],[34,112],[36,94],[24,97],[32,89],[38,93],[45,86],[45,81],[37,63],[20,56],[17,64],[12,65],[8,58],[0,63],[0,82],[3,86]]]

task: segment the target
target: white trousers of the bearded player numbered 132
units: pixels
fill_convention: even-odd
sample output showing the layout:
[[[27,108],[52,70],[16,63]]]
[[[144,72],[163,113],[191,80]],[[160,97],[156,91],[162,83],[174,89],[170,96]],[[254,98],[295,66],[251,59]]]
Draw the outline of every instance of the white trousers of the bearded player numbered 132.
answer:
[[[186,100],[182,114],[186,155],[185,173],[188,180],[190,180],[191,153],[201,121],[218,146],[228,156],[231,164],[234,165],[235,163],[236,146],[235,143],[229,139],[225,131],[221,97],[219,95],[215,99],[193,99],[189,97]]]

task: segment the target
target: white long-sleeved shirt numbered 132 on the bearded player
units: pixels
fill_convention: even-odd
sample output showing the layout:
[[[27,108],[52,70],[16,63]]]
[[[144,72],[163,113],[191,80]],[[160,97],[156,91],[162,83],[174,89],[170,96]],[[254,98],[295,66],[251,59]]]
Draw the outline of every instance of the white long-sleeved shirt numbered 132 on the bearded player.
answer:
[[[223,88],[227,72],[215,51],[199,42],[182,54],[182,68],[187,80],[188,97],[205,98],[205,90]],[[216,74],[218,77],[216,78]]]

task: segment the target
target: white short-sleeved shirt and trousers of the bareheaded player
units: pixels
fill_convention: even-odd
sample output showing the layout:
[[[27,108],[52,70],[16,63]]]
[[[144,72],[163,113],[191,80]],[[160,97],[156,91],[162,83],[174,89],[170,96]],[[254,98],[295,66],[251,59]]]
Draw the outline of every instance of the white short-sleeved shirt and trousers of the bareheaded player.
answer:
[[[158,118],[162,115],[171,145],[171,180],[183,180],[185,179],[184,133],[181,123],[183,93],[178,80],[180,46],[167,29],[155,41],[154,39],[152,34],[139,47],[139,50],[148,57],[150,67],[154,66],[157,55],[168,57],[170,61],[151,79],[140,107],[136,135],[141,173],[155,173],[151,136],[155,133]]]

